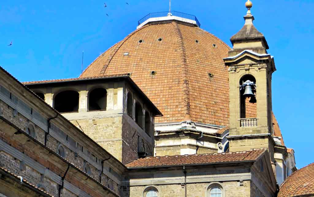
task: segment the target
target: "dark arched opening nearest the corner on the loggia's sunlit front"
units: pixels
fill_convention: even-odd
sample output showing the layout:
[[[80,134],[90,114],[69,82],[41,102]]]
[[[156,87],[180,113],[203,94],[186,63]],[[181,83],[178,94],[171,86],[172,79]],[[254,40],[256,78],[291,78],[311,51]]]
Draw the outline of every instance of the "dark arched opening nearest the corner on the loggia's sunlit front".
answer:
[[[107,91],[104,88],[96,88],[89,93],[88,110],[107,109]]]

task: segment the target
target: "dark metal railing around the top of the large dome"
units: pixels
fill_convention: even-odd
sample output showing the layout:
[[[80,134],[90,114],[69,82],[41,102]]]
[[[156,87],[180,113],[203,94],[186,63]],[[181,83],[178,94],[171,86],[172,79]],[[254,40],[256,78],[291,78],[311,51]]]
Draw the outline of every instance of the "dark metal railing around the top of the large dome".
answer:
[[[198,19],[196,18],[195,15],[182,13],[182,12],[177,12],[177,11],[171,11],[170,13],[171,13],[172,16],[177,16],[177,17],[181,17],[181,18],[184,18],[184,19],[195,20],[196,24],[198,25],[198,27],[201,27],[201,24],[199,23],[199,21],[198,21]],[[158,18],[158,17],[165,17],[165,16],[168,16],[168,14],[169,14],[169,12],[153,12],[153,13],[149,13],[149,14],[147,14],[146,16],[144,16],[142,19],[140,19],[138,21],[138,25],[142,24],[147,19]]]

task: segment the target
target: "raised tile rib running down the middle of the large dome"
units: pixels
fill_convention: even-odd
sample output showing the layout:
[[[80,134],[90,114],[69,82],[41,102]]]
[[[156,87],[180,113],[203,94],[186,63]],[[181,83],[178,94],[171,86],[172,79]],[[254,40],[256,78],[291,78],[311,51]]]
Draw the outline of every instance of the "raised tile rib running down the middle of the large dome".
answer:
[[[183,42],[183,37],[181,29],[176,22],[171,22],[174,27],[175,33],[177,34],[179,51],[181,52],[181,67],[182,67],[182,78],[183,78],[183,113],[184,120],[191,120],[190,118],[190,89],[189,89],[189,79],[188,79],[188,67],[187,67],[187,57],[185,53],[185,47]]]

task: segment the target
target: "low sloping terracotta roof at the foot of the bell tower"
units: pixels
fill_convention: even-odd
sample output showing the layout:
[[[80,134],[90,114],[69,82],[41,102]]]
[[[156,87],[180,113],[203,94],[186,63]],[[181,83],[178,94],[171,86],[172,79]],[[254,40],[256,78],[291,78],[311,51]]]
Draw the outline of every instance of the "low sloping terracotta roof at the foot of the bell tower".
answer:
[[[207,164],[218,162],[254,161],[265,152],[266,149],[255,149],[244,152],[227,152],[200,155],[176,155],[164,157],[144,157],[126,164],[128,168],[174,166],[189,164]]]

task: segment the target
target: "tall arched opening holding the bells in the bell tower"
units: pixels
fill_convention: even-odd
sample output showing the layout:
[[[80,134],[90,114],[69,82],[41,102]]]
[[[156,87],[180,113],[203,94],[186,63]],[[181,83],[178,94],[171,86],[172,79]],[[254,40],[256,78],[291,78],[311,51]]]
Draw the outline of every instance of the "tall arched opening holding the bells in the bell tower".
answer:
[[[256,79],[244,75],[240,79],[240,118],[257,117]]]

